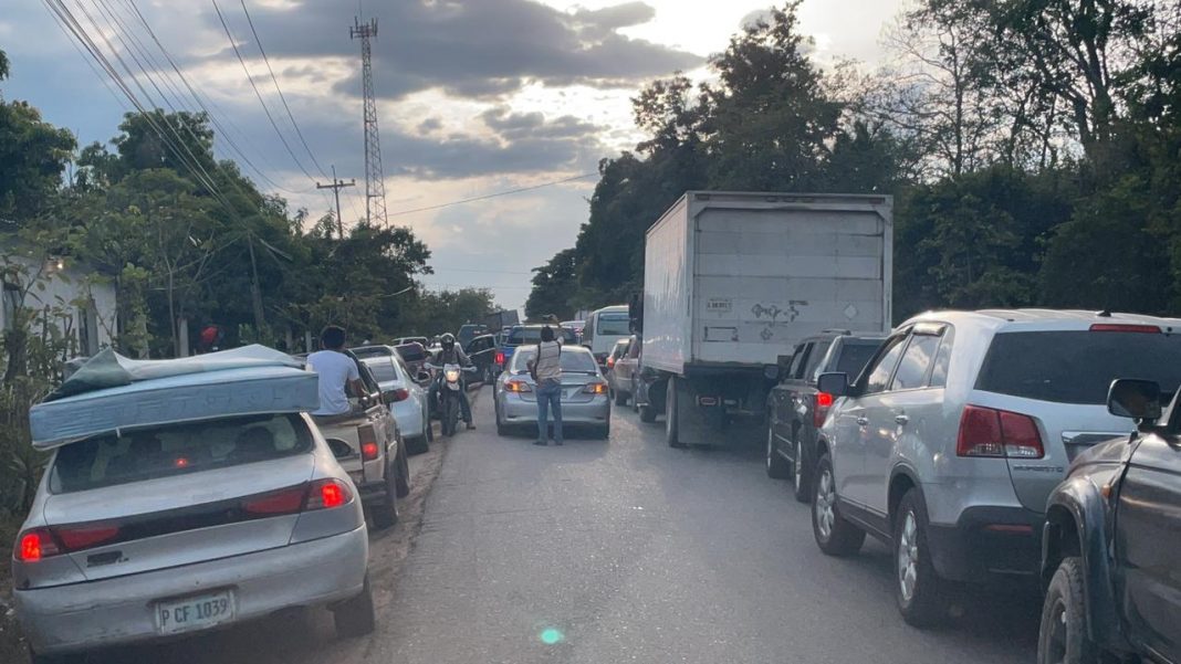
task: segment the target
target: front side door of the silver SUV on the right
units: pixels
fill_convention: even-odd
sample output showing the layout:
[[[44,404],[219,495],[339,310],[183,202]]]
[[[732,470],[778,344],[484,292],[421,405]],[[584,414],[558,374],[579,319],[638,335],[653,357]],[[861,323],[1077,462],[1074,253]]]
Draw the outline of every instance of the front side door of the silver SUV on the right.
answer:
[[[867,475],[866,454],[870,447],[880,445],[875,439],[888,435],[886,427],[893,423],[886,393],[908,338],[909,330],[906,330],[886,340],[866,368],[864,383],[854,386],[853,395],[834,413],[836,440],[831,446],[836,489],[843,500],[862,507],[872,502],[876,486]]]

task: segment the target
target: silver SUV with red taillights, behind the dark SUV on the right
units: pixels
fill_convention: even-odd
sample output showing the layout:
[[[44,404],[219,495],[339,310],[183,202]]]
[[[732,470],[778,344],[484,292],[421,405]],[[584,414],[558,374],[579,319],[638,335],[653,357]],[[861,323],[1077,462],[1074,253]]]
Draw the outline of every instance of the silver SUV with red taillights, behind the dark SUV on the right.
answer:
[[[1035,581],[1046,498],[1079,452],[1133,429],[1117,377],[1181,382],[1181,320],[1050,310],[928,313],[900,326],[821,429],[813,531],[830,555],[894,551],[902,617],[947,614],[948,581]]]

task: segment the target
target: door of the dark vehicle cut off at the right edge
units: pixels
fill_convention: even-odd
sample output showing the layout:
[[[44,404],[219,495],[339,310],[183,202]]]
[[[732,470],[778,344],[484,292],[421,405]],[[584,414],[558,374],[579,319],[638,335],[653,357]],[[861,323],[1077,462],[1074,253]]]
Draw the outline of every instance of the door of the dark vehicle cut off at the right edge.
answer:
[[[1123,614],[1136,645],[1181,662],[1181,436],[1147,435],[1120,482],[1116,568],[1123,574]]]

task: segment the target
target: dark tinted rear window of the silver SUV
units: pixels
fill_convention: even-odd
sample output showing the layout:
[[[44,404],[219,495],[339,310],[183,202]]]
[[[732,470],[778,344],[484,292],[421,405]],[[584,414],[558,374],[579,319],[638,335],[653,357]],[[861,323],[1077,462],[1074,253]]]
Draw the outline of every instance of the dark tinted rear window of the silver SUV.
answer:
[[[1181,336],[1116,331],[1003,333],[976,388],[1059,403],[1105,403],[1111,381],[1147,379],[1164,394],[1181,381]]]

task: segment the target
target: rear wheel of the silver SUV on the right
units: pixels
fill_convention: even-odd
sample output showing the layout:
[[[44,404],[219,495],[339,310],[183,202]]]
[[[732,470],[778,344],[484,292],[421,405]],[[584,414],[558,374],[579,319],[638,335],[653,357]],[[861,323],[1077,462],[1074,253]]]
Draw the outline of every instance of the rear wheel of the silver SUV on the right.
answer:
[[[912,488],[898,504],[894,518],[894,599],[902,619],[913,627],[929,627],[947,619],[947,581],[931,563],[927,506]]]

